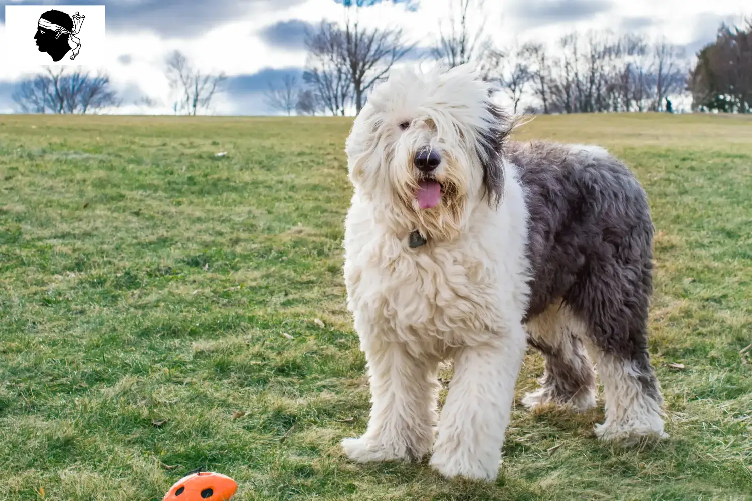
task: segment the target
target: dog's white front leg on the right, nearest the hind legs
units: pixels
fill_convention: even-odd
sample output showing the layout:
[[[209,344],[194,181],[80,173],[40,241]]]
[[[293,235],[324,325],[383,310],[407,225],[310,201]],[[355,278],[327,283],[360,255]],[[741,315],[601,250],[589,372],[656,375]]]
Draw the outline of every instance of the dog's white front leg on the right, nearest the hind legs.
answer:
[[[496,478],[525,346],[517,325],[490,343],[456,352],[431,457],[441,475]]]

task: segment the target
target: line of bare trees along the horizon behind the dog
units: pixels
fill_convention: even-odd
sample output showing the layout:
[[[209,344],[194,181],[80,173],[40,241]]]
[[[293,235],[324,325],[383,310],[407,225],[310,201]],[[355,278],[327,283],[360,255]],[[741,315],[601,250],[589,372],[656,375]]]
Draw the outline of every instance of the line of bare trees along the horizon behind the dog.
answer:
[[[496,47],[484,0],[447,0],[450,15],[431,47],[417,47],[402,29],[360,22],[381,0],[335,0],[344,21],[322,20],[305,35],[305,70],[269,84],[265,103],[287,115],[356,113],[394,65],[432,59],[447,67],[473,63],[503,92],[514,113],[594,113],[671,110],[671,98],[691,96],[692,110],[752,113],[752,17],[723,24],[696,56],[666,38],[571,32],[554,44],[529,41]],[[391,0],[417,8],[412,0]],[[202,71],[179,51],[165,60],[174,113],[208,112],[226,76]],[[23,79],[13,93],[22,113],[99,113],[123,99],[106,72],[50,67]],[[153,105],[148,97],[135,104]],[[525,106],[524,109],[521,107]]]

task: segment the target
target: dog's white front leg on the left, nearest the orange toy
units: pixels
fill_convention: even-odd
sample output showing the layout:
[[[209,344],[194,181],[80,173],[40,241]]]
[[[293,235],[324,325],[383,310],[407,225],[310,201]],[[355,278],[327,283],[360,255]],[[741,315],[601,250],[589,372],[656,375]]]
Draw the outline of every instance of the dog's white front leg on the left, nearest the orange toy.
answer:
[[[359,463],[420,459],[433,443],[438,360],[413,357],[402,343],[379,343],[365,355],[371,417],[363,436],[342,441],[345,454]]]

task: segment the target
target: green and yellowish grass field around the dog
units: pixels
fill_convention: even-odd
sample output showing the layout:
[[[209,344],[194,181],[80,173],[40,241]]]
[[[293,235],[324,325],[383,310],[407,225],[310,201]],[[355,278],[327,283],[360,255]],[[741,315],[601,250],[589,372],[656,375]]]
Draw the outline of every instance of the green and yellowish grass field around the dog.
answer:
[[[530,351],[494,484],[338,445],[369,408],[341,278],[349,127],[0,118],[0,499],[162,499],[199,466],[237,499],[752,499],[752,120],[520,131],[606,146],[647,189],[671,438],[614,448],[600,407],[529,414]]]

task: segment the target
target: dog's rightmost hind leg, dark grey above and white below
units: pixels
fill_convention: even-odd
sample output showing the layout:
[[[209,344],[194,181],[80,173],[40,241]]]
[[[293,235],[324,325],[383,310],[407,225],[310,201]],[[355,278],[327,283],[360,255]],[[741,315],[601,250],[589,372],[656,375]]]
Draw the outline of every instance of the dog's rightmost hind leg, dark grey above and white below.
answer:
[[[605,422],[596,436],[625,444],[664,437],[663,395],[647,352],[650,263],[591,259],[567,302],[587,326],[586,347],[603,383]]]

